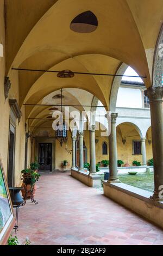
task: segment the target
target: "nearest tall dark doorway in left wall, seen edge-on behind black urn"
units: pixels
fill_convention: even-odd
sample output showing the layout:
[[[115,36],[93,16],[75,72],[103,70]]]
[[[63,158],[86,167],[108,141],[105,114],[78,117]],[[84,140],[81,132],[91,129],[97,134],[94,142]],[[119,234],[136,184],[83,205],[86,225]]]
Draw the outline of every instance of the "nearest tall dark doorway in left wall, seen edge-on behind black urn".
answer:
[[[14,186],[15,127],[10,124],[8,155],[8,186]]]

